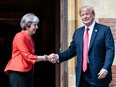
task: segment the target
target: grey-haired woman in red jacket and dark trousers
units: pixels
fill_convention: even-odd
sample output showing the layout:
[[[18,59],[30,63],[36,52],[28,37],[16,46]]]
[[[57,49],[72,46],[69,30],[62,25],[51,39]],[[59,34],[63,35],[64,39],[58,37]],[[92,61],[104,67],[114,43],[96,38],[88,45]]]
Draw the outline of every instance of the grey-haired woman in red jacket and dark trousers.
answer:
[[[33,87],[33,66],[35,62],[47,61],[49,56],[35,55],[32,35],[38,29],[39,18],[28,13],[21,19],[22,31],[16,33],[12,42],[12,56],[4,72],[9,75],[11,87]]]

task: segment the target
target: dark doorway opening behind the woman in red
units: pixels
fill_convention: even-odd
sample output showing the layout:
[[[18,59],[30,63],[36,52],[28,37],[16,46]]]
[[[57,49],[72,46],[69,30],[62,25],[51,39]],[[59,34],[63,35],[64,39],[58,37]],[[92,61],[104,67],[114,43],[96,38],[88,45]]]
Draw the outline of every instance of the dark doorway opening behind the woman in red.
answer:
[[[56,3],[57,1],[57,3]],[[33,36],[37,55],[55,52],[56,7],[59,0],[1,0],[0,3],[0,86],[10,87],[8,76],[3,72],[11,58],[12,40],[21,31],[20,18],[29,12],[35,13],[40,23]],[[58,22],[59,23],[59,22]],[[59,27],[59,26],[58,26]],[[57,28],[58,29],[58,28]],[[38,62],[34,65],[34,87],[55,87],[55,64]]]

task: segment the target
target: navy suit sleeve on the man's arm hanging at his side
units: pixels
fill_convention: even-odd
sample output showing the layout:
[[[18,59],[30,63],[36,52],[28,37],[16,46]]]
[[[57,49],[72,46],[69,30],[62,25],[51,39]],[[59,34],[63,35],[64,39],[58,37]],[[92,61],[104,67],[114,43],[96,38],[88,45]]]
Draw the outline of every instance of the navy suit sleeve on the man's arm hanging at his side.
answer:
[[[106,56],[103,68],[108,70],[112,66],[114,60],[115,47],[113,35],[110,28],[108,28],[105,33]]]

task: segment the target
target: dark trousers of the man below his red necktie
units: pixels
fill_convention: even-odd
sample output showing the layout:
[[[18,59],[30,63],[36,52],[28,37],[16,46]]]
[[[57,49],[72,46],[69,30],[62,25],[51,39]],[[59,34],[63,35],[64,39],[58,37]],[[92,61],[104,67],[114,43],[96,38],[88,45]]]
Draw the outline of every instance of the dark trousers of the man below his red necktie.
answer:
[[[109,87],[108,85],[105,86],[96,86],[92,80],[89,64],[87,66],[86,72],[82,72],[79,87]]]

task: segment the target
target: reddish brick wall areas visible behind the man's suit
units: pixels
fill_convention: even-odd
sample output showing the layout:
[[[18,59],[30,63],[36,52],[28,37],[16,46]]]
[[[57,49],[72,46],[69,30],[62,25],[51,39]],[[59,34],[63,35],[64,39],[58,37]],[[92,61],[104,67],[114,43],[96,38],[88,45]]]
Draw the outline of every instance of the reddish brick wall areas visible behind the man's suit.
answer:
[[[116,43],[116,18],[99,18],[99,23],[111,28],[114,42]],[[112,82],[110,83],[110,87],[116,87],[116,65],[112,66]]]

